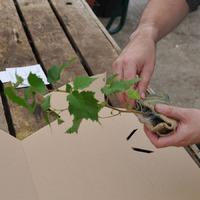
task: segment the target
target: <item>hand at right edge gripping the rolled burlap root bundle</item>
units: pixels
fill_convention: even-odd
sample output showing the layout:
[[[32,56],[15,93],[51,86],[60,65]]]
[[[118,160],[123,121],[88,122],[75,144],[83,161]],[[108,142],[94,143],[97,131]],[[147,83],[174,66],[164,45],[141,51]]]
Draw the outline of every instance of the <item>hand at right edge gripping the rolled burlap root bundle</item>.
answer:
[[[152,144],[157,148],[177,146],[185,147],[200,143],[200,110],[185,109],[167,105],[156,105],[156,111],[177,120],[177,129],[166,137],[158,137],[144,127],[144,131]]]

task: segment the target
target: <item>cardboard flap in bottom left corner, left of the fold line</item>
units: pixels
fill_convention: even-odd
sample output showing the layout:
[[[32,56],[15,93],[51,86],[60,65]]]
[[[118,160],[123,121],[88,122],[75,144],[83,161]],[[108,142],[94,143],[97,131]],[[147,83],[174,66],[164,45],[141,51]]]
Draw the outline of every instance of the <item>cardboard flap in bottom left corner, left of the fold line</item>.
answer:
[[[20,141],[0,131],[0,199],[38,200]]]

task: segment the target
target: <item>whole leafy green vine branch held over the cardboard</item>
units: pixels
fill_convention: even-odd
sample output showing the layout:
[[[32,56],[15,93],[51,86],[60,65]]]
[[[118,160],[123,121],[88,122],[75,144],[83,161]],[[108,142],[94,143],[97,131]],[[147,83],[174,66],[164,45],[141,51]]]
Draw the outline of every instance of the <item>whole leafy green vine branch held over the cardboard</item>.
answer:
[[[62,76],[65,69],[74,63],[75,59],[70,60],[66,64],[60,66],[52,66],[47,72],[47,79],[50,84],[57,83]],[[119,109],[109,105],[109,96],[118,93],[126,92],[129,99],[140,99],[139,93],[134,90],[134,85],[140,79],[135,78],[131,80],[118,80],[117,75],[111,75],[107,78],[106,84],[101,88],[101,92],[106,96],[106,100],[100,102],[95,98],[95,93],[89,91],[87,88],[96,80],[96,78],[88,76],[78,76],[72,83],[66,83],[65,89],[53,89],[51,92],[59,92],[66,94],[66,101],[68,107],[63,109],[55,109],[51,106],[51,95],[44,96],[49,91],[43,80],[36,74],[30,73],[28,76],[29,87],[24,90],[23,95],[19,94],[17,87],[23,83],[24,79],[16,74],[17,82],[5,88],[5,94],[15,104],[26,108],[36,117],[44,117],[47,124],[50,125],[50,116],[56,118],[58,124],[62,124],[64,120],[61,118],[61,112],[68,110],[73,116],[73,124],[66,131],[67,133],[77,133],[81,122],[92,120],[99,122],[99,112],[103,107],[111,108],[111,115],[107,117],[114,117],[122,112],[136,113],[138,111],[127,106],[126,109]],[[66,104],[67,105],[67,104]],[[117,113],[114,113],[117,111]],[[107,118],[105,117],[105,118]]]

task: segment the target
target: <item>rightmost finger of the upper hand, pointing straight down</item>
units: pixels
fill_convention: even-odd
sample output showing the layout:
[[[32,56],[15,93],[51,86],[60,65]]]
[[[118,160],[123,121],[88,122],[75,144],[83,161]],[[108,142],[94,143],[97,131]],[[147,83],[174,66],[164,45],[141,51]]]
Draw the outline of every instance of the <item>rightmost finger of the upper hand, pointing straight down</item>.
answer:
[[[143,99],[145,98],[145,93],[148,88],[152,74],[153,74],[153,67],[144,66],[143,71],[140,74],[140,78],[142,80],[139,82],[138,85],[140,95]]]

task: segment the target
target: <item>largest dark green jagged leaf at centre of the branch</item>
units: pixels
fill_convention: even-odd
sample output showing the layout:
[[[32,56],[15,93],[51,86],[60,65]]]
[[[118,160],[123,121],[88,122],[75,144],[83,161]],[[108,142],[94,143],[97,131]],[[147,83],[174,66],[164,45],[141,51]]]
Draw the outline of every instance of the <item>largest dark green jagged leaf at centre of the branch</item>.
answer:
[[[69,112],[75,119],[91,119],[98,121],[98,113],[101,109],[100,104],[94,96],[94,92],[73,91],[68,95]]]

